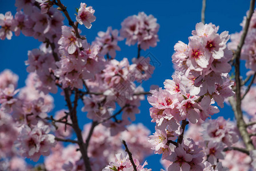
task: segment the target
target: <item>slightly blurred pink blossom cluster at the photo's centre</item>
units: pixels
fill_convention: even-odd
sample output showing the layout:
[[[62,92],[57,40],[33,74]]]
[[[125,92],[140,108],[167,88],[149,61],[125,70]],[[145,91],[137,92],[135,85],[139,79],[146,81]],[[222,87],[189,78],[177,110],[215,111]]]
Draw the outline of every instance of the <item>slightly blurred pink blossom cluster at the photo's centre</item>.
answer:
[[[121,62],[115,59],[107,60],[105,69],[95,75],[95,79],[86,80],[90,91],[99,95],[83,96],[85,107],[83,112],[87,112],[87,117],[101,121],[113,114],[115,101],[123,109],[122,119],[127,123],[127,118],[135,120],[135,113],[139,113],[140,101],[145,97],[136,95],[143,93],[142,87],[137,87],[134,83],[148,79],[153,73],[154,67],[150,64],[149,58],[141,56],[133,59],[133,64],[129,64],[127,58]]]

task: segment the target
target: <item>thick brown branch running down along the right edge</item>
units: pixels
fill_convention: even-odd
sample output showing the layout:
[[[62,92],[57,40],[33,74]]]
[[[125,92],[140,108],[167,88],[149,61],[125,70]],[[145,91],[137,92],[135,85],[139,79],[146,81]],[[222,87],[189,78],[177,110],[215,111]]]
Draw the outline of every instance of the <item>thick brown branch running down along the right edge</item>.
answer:
[[[249,134],[246,130],[246,123],[243,120],[243,113],[242,113],[242,109],[241,109],[240,55],[241,55],[242,46],[245,43],[245,38],[246,38],[246,35],[247,35],[247,31],[249,29],[250,19],[251,19],[251,16],[253,15],[254,3],[255,3],[255,0],[251,0],[249,15],[246,17],[245,27],[244,27],[240,42],[238,44],[237,51],[234,54],[234,59],[235,59],[235,83],[236,83],[235,95],[236,95],[236,98],[235,99],[234,99],[234,97],[230,98],[230,104],[231,104],[232,109],[235,113],[235,119],[237,120],[237,127],[238,127],[238,130],[239,130],[239,132],[242,136],[243,143],[245,143],[245,146],[246,146],[247,150],[253,150],[254,145],[253,145],[253,143],[250,139],[250,136],[249,136]]]

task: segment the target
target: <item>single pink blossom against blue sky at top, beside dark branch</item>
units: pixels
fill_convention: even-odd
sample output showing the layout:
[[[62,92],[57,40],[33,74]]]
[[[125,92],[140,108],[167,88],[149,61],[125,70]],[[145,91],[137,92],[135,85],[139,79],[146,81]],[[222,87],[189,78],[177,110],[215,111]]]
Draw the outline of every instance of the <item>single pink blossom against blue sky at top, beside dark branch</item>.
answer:
[[[81,3],[76,19],[80,25],[85,25],[86,28],[91,28],[91,23],[96,19],[94,16],[95,10],[92,6],[86,6],[85,3]]]

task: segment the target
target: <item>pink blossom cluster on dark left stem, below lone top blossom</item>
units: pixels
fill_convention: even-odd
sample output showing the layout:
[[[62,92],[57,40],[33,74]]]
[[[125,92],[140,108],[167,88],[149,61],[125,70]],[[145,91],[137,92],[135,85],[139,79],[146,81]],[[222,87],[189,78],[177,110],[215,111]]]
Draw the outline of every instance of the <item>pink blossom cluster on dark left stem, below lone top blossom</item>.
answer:
[[[58,69],[54,74],[63,88],[83,88],[82,80],[94,78],[103,69],[105,59],[99,55],[100,47],[77,38],[73,28],[62,26],[58,44],[61,60],[56,62]]]

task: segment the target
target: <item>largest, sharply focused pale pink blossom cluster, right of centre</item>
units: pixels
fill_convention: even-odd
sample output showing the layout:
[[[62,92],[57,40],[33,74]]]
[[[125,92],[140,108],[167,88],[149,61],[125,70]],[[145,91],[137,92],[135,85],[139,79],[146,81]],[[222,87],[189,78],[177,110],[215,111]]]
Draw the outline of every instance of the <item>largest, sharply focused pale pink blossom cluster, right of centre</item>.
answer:
[[[173,80],[165,80],[165,89],[151,90],[152,96],[147,98],[153,106],[150,108],[152,122],[156,123],[156,132],[149,137],[149,142],[155,153],[163,154],[162,159],[170,161],[168,170],[203,170],[203,157],[216,167],[218,159],[224,158],[225,146],[238,141],[234,125],[219,117],[203,123],[203,137],[198,133],[196,142],[188,139],[180,144],[186,120],[198,123],[191,128],[200,128],[207,117],[219,112],[213,106],[215,101],[223,107],[225,98],[234,95],[233,83],[227,75],[232,58],[226,46],[229,35],[227,31],[218,34],[218,28],[211,23],[198,23],[193,36],[189,37],[189,44],[175,44]],[[195,153],[186,151],[185,145],[195,148]]]

